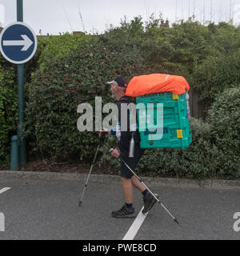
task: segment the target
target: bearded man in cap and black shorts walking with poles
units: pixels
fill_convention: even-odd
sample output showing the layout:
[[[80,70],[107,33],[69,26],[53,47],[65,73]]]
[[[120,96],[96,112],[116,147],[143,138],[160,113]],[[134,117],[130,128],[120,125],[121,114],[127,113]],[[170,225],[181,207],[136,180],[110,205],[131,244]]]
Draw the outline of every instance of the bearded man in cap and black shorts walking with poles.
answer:
[[[130,104],[132,103],[130,97],[126,96],[126,87],[127,82],[125,78],[116,78],[111,82],[107,82],[111,85],[110,90],[113,98],[117,100],[118,106],[118,125],[116,130],[101,130],[99,136],[102,133],[107,134],[116,134],[118,138],[118,148],[114,149],[111,153],[111,156],[114,158],[118,158],[120,155],[122,159],[126,162],[128,166],[132,170],[137,166],[140,158],[142,158],[142,154],[144,150],[140,147],[140,137],[137,131],[134,132],[134,157],[129,157],[130,152],[130,140],[132,138],[133,131],[130,131],[130,113],[127,111],[126,117],[123,117],[123,120],[127,122],[127,130],[121,130],[121,114],[122,114],[122,104]],[[122,180],[122,189],[123,195],[125,199],[125,205],[122,206],[120,210],[113,211],[112,216],[114,218],[135,218],[134,214],[134,206],[133,206],[133,187],[136,187],[139,191],[142,192],[144,207],[142,210],[142,214],[146,214],[153,206],[157,200],[146,190],[146,187],[139,182],[138,178],[132,174],[130,170],[121,162],[121,180]],[[158,198],[158,195],[156,195]]]

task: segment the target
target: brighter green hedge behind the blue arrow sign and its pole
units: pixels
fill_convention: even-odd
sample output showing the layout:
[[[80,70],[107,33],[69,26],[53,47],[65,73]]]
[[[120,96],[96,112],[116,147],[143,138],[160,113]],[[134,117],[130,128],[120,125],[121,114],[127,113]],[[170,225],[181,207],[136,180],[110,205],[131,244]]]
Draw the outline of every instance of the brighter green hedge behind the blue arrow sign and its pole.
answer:
[[[25,64],[25,100],[28,102],[27,82],[34,77],[34,72],[44,71],[46,63],[53,58],[70,54],[81,45],[88,44],[90,35],[61,34],[48,38],[38,37],[38,50],[34,58]],[[18,83],[17,72],[10,62],[0,54],[0,166],[10,163],[10,137],[17,133],[18,126]]]

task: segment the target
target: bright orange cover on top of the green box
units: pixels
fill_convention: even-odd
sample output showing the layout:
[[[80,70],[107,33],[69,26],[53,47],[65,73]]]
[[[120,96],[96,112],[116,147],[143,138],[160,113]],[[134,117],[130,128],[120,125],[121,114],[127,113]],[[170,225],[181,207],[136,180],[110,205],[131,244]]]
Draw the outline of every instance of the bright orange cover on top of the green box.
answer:
[[[163,92],[171,92],[180,95],[189,90],[190,86],[188,82],[181,76],[170,74],[146,74],[134,77],[130,80],[126,88],[126,95],[137,97]]]

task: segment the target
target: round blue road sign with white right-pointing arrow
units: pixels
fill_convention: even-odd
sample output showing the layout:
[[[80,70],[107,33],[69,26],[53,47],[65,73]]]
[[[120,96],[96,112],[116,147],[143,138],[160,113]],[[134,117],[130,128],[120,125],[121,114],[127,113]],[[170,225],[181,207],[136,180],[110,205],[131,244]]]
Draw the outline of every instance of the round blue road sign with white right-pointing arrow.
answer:
[[[6,26],[0,34],[0,50],[4,58],[22,64],[33,58],[38,46],[34,30],[23,22]]]

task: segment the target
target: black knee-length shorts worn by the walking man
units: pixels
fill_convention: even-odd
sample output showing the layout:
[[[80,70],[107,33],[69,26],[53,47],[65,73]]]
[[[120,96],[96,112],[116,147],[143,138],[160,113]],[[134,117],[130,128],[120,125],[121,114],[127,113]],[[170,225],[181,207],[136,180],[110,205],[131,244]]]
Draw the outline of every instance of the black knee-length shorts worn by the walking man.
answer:
[[[132,170],[136,168],[138,165],[139,160],[142,158],[142,154],[144,153],[144,150],[140,148],[140,146],[135,146],[134,148],[134,158],[129,158],[128,154],[121,154],[122,159],[126,162],[128,166]],[[126,165],[121,161],[121,177],[123,178],[132,178],[134,174],[126,167]]]

